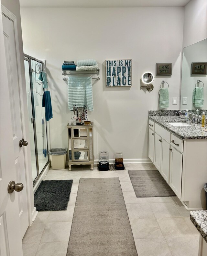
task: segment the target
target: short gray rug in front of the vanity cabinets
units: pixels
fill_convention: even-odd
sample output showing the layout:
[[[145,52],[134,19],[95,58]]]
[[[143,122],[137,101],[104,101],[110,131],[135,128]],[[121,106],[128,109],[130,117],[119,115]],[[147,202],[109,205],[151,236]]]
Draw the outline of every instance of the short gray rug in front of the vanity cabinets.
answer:
[[[176,196],[158,170],[128,171],[136,197]]]

